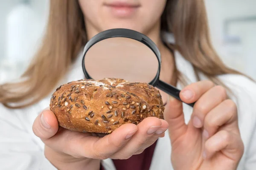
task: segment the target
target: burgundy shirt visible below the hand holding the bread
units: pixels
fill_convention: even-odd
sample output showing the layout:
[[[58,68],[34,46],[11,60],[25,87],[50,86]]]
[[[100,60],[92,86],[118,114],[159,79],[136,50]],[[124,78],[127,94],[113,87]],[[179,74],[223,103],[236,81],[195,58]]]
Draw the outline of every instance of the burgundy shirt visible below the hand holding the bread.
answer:
[[[116,170],[149,170],[156,144],[157,141],[146,148],[143,153],[133,155],[129,159],[113,159]],[[101,166],[100,170],[105,169]]]

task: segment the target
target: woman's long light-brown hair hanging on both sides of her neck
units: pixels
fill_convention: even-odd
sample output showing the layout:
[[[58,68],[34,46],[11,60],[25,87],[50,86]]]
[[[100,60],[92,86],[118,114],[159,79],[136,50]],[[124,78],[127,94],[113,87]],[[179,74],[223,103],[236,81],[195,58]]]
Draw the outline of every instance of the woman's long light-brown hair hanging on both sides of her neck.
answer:
[[[41,48],[20,81],[0,85],[0,102],[6,107],[23,108],[49,95],[87,42],[77,0],[51,0],[49,12]],[[167,0],[161,29],[174,34],[175,44],[169,46],[192,63],[198,80],[201,72],[224,85],[218,75],[241,74],[227,68],[212,47],[204,0]]]

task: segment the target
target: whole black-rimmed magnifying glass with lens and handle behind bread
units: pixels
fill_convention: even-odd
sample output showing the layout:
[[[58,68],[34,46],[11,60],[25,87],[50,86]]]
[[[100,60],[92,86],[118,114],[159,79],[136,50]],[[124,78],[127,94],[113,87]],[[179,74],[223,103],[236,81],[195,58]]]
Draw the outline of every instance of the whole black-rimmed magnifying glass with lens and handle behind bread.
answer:
[[[181,101],[180,90],[159,79],[160,51],[140,32],[115,28],[96,34],[84,47],[82,68],[86,79],[145,82]],[[194,106],[194,103],[186,104]]]

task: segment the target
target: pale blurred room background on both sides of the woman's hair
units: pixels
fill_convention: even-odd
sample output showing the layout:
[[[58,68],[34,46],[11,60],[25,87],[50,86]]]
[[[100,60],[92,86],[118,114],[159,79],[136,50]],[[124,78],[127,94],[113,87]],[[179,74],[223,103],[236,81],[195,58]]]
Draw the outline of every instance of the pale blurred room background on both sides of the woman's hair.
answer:
[[[256,79],[256,0],[205,0],[223,61]],[[19,77],[40,45],[49,0],[0,0],[0,83]]]

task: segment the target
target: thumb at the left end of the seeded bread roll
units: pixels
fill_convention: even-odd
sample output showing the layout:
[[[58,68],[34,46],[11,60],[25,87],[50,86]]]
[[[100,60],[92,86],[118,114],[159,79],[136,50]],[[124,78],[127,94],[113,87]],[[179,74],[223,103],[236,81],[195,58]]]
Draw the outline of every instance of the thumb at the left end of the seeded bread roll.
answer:
[[[48,139],[58,131],[58,121],[52,111],[44,110],[35,119],[32,130],[42,140]]]

